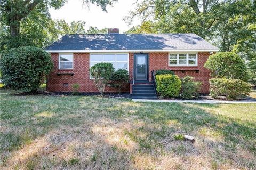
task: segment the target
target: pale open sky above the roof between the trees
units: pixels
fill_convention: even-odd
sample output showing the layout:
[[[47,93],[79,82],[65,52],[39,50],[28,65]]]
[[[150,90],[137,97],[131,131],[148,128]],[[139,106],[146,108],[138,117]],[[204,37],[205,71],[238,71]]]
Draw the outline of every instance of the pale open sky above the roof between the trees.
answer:
[[[132,26],[139,25],[139,19],[134,19],[129,26],[123,18],[129,15],[129,11],[135,9],[135,0],[119,0],[113,6],[108,5],[107,11],[101,10],[100,6],[89,4],[89,7],[82,5],[82,0],[70,0],[61,9],[50,9],[52,19],[64,19],[67,23],[71,21],[85,21],[85,29],[90,26],[102,28],[119,28],[119,33],[129,30]]]

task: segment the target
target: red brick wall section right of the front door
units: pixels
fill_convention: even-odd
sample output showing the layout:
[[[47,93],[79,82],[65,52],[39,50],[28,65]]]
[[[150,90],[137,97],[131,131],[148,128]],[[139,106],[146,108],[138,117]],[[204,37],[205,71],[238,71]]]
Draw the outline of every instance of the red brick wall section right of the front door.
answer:
[[[197,66],[173,67],[168,66],[168,53],[149,53],[149,72],[152,70],[167,69],[173,70],[175,75],[178,75],[180,78],[187,75],[193,76],[195,80],[203,82],[201,93],[209,93],[210,71],[204,68],[204,63],[209,55],[209,53],[198,53]],[[197,73],[193,70],[199,70],[199,72]],[[151,80],[151,74],[149,75],[149,80]]]

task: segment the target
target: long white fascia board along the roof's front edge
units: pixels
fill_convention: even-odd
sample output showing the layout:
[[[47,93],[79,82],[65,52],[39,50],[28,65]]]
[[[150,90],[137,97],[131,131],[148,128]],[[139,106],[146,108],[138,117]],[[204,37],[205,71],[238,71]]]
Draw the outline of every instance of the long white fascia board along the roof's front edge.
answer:
[[[49,53],[218,52],[219,50],[46,50]]]

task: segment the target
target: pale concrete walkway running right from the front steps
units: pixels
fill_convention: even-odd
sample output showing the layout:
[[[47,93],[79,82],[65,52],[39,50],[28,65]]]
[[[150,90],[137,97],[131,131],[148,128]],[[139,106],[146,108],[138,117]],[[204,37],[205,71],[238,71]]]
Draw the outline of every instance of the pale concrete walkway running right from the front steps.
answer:
[[[132,99],[133,102],[157,102],[157,103],[205,103],[205,104],[218,104],[218,103],[256,103],[256,100],[150,100],[150,99]]]

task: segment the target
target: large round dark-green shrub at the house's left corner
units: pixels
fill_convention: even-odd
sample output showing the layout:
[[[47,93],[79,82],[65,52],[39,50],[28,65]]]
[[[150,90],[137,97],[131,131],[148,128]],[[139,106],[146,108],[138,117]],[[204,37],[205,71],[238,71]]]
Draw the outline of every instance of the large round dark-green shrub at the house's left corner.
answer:
[[[14,90],[36,91],[52,68],[50,54],[38,47],[12,48],[1,53],[1,79]]]

